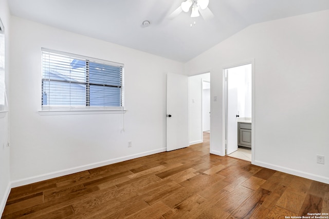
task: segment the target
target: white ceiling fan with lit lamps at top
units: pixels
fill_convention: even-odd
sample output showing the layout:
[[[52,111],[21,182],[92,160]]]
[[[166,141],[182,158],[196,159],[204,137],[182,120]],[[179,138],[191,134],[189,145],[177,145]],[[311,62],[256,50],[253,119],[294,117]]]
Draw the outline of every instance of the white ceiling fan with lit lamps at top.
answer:
[[[170,19],[175,18],[180,12],[189,12],[191,9],[191,17],[198,17],[200,14],[204,19],[212,18],[214,15],[208,8],[209,0],[186,0],[169,15]]]

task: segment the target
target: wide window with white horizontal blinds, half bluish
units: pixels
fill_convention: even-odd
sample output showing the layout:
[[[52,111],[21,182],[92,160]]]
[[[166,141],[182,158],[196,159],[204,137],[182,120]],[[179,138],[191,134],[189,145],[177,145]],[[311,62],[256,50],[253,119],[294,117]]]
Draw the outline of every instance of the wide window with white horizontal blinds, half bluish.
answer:
[[[42,109],[122,109],[122,74],[119,63],[42,49]]]

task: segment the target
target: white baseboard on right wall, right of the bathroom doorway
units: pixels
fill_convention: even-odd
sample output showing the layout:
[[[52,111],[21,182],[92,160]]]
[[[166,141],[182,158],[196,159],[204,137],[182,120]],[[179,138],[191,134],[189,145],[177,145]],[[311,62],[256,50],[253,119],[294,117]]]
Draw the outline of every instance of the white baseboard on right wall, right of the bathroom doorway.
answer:
[[[325,177],[325,176],[316,175],[316,174],[312,174],[312,173],[307,173],[307,172],[304,172],[304,171],[290,169],[290,168],[286,168],[286,167],[282,167],[282,166],[278,166],[278,165],[272,165],[272,164],[261,162],[261,161],[254,161],[254,162],[252,162],[252,164],[260,166],[260,167],[265,167],[265,168],[268,168],[268,169],[272,169],[272,170],[281,171],[281,172],[288,173],[288,174],[291,174],[291,175],[296,175],[296,176],[308,178],[309,180],[314,180],[314,181],[318,181],[318,182],[321,182],[321,183],[329,184],[329,178]]]

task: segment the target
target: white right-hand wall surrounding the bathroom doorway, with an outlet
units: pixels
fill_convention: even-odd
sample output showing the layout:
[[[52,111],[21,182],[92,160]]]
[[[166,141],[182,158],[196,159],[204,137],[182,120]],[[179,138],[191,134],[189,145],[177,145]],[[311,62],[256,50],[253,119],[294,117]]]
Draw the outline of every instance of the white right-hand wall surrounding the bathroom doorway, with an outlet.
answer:
[[[186,64],[211,71],[211,152],[224,155],[223,67],[254,58],[253,163],[329,183],[329,11],[252,25]],[[213,97],[212,97],[213,98]]]

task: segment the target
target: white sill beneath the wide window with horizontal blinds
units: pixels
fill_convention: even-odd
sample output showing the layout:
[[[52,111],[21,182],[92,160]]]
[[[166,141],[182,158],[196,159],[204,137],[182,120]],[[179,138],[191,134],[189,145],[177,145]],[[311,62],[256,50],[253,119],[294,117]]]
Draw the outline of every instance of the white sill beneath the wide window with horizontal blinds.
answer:
[[[125,113],[127,110],[40,110],[40,115],[83,115],[83,114],[119,114]]]

